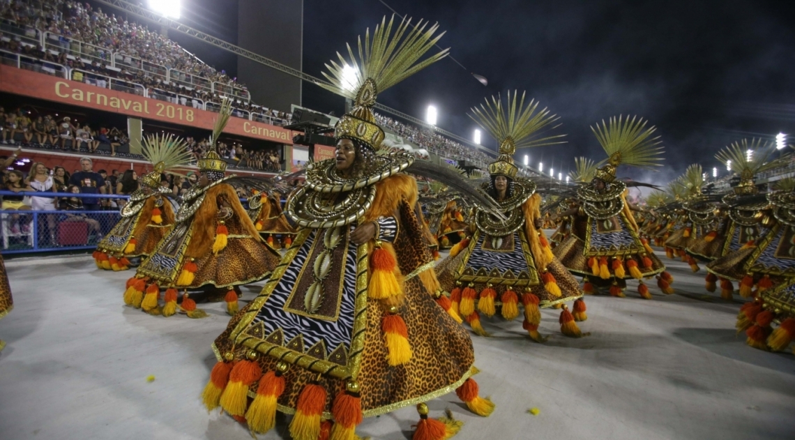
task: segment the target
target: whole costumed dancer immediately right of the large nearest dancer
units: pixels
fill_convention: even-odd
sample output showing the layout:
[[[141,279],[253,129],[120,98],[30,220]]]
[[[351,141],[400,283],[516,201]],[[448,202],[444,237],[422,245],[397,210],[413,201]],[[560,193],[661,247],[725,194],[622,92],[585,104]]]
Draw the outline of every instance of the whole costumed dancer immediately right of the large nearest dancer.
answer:
[[[560,144],[562,135],[535,136],[541,129],[554,128],[558,119],[549,110],[536,111],[534,100],[525,106],[525,95],[508,93],[502,98],[486,100],[486,106],[472,109],[470,115],[499,143],[499,156],[489,165],[491,181],[483,184],[508,220],[493,218],[476,209],[474,230],[468,240],[454,246],[450,255],[436,268],[439,280],[451,292],[454,308],[466,318],[477,334],[486,334],[480,314],[491,317],[496,307],[503,318],[512,320],[519,314],[518,301],[525,308],[523,327],[536,342],[545,340],[538,333],[539,307],[553,307],[582,297],[580,286],[553,257],[549,242],[541,231],[541,195],[536,184],[517,176],[513,155],[517,149]],[[561,331],[572,337],[582,333],[568,307],[560,315]],[[574,307],[584,312],[580,300]],[[584,313],[580,314],[584,317]]]

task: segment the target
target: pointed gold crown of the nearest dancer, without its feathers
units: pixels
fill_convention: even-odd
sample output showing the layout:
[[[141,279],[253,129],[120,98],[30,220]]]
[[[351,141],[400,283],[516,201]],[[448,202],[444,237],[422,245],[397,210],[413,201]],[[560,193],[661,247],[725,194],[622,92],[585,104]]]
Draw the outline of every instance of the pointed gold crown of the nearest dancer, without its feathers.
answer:
[[[370,110],[370,107],[375,104],[377,93],[375,81],[366,79],[356,95],[355,107],[351,113],[339,118],[334,126],[336,139],[355,139],[369,145],[375,151],[381,148],[385,137],[384,130],[375,123],[373,110]]]

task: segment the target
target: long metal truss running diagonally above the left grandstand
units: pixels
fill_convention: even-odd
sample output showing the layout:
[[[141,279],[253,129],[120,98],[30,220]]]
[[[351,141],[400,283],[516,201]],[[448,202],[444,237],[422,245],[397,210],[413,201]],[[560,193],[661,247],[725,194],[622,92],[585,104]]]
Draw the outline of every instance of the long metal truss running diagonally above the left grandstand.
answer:
[[[316,77],[314,77],[312,75],[307,75],[307,74],[305,74],[304,72],[302,72],[300,70],[291,68],[289,66],[285,66],[285,64],[281,64],[281,63],[278,63],[277,61],[270,60],[270,58],[266,58],[265,56],[262,56],[262,55],[259,55],[257,53],[251,52],[250,50],[246,50],[246,49],[241,48],[241,47],[239,47],[239,46],[237,46],[235,44],[231,44],[231,43],[229,43],[227,41],[223,41],[223,40],[221,40],[219,38],[213,37],[211,35],[207,35],[207,33],[200,32],[199,30],[193,29],[190,26],[183,25],[183,24],[181,24],[178,21],[174,21],[174,20],[172,20],[172,19],[170,19],[168,17],[163,17],[160,14],[156,14],[156,13],[154,13],[154,12],[152,12],[150,10],[146,10],[145,8],[142,8],[140,6],[133,5],[132,3],[125,2],[124,0],[96,0],[96,1],[99,2],[99,3],[102,3],[103,5],[111,6],[113,8],[118,9],[118,10],[122,10],[122,11],[126,12],[127,14],[134,15],[134,16],[142,18],[144,20],[153,21],[153,22],[155,22],[155,23],[157,23],[159,25],[165,26],[166,28],[168,28],[170,30],[175,30],[176,32],[184,33],[185,35],[188,35],[189,37],[193,37],[193,38],[196,38],[197,40],[204,41],[207,44],[212,44],[212,45],[214,45],[217,48],[222,48],[223,50],[226,50],[228,52],[232,52],[232,53],[234,53],[237,56],[242,56],[242,57],[245,57],[245,58],[247,58],[249,60],[256,61],[256,62],[258,62],[260,64],[264,64],[264,65],[268,66],[269,68],[273,68],[273,69],[276,69],[277,71],[284,72],[287,75],[295,76],[296,78],[301,79],[302,81],[307,81],[308,83],[312,83],[312,84],[316,84],[316,85],[328,83],[324,79],[316,78]],[[416,125],[420,125],[422,127],[429,127],[429,125],[427,123],[425,123],[424,121],[422,121],[421,119],[414,118],[413,116],[411,116],[409,114],[405,114],[405,113],[403,113],[403,112],[401,112],[399,110],[394,110],[393,108],[390,108],[388,106],[384,106],[383,104],[378,104],[378,102],[376,102],[374,107],[377,110],[382,110],[382,111],[384,111],[386,113],[394,114],[398,118],[405,119],[406,121],[412,122],[412,123],[414,123]],[[429,127],[429,128],[432,129],[436,133],[439,133],[441,135],[444,135],[446,137],[449,137],[451,139],[459,141],[462,144],[470,145],[472,147],[475,147],[475,149],[480,149],[481,151],[486,152],[487,154],[490,154],[491,156],[495,156],[496,155],[495,152],[491,151],[490,149],[487,149],[487,148],[483,147],[483,145],[475,144],[474,142],[469,141],[469,140],[467,140],[467,139],[465,139],[463,137],[460,137],[460,136],[458,136],[458,135],[456,135],[454,133],[450,133],[447,130],[440,129],[439,127],[436,127],[436,126],[432,126],[432,127]]]

